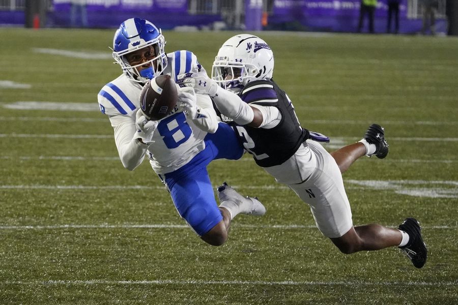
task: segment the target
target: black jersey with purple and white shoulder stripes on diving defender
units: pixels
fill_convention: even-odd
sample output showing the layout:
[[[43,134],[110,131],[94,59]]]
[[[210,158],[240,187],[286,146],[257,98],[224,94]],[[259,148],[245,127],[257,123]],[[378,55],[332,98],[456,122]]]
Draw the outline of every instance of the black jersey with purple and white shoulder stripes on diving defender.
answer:
[[[282,164],[308,139],[308,131],[300,126],[291,100],[273,80],[252,81],[239,96],[248,104],[277,107],[281,113],[280,123],[271,129],[232,123],[240,142],[253,155],[257,165],[270,167]],[[227,121],[224,116],[221,118]]]

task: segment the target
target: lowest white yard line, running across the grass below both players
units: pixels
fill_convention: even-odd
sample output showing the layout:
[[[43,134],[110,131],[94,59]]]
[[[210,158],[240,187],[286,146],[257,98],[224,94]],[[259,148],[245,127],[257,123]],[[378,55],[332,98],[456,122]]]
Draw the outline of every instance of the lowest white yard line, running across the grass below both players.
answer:
[[[249,286],[458,286],[458,282],[363,282],[363,281],[205,281],[205,280],[49,280],[49,281],[3,281],[2,285],[249,285]]]

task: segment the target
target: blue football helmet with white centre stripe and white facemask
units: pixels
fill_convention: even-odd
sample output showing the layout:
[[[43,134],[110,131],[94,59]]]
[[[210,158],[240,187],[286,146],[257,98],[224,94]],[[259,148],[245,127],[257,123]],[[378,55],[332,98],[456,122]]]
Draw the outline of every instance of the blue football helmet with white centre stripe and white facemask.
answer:
[[[125,55],[152,46],[156,56],[146,62],[131,66]],[[145,19],[130,18],[121,23],[113,38],[113,58],[121,66],[124,74],[135,82],[146,83],[158,76],[167,66],[167,56],[164,51],[165,39],[160,29]],[[147,69],[141,66],[150,64]]]

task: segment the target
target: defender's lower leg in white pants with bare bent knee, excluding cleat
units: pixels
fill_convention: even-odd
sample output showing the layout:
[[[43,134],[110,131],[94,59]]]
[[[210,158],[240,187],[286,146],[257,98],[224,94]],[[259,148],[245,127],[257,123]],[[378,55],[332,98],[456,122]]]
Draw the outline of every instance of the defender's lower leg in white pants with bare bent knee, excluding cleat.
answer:
[[[306,202],[320,231],[343,253],[397,246],[402,234],[380,225],[353,227],[344,182],[335,160],[318,143],[309,143],[317,170],[301,184],[290,185]]]

